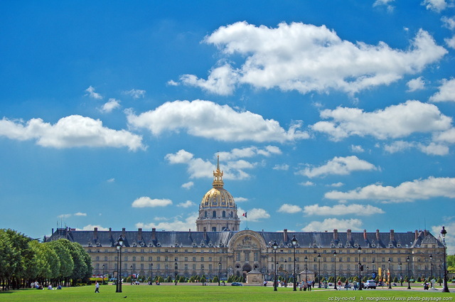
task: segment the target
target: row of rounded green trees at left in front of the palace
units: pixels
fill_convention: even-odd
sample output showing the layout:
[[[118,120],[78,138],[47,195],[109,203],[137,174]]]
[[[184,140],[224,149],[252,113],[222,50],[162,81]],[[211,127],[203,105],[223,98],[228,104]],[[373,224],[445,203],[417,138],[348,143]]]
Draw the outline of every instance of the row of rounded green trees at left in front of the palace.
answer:
[[[58,239],[38,242],[20,232],[0,229],[2,291],[25,288],[32,282],[75,286],[92,275],[92,259],[77,242]]]

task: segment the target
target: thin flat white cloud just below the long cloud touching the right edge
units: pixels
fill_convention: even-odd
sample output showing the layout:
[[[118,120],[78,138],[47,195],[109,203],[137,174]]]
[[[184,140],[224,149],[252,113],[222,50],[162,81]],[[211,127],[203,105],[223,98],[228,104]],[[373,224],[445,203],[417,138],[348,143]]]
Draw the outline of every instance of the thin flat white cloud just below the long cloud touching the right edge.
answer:
[[[357,216],[370,216],[374,214],[384,214],[385,212],[379,207],[373,205],[306,205],[304,213],[310,215],[330,216],[330,215],[357,215]]]

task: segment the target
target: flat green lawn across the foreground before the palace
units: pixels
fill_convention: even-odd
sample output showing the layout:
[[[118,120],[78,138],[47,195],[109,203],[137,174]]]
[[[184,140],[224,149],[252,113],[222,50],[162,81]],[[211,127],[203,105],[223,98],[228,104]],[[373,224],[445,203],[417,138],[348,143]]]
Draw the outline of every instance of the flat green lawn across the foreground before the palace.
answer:
[[[24,289],[0,292],[0,301],[8,302],[180,302],[180,301],[454,301],[455,288],[450,293],[439,291],[410,291],[407,289],[376,289],[365,291],[316,290],[292,291],[292,287],[278,288],[263,286],[123,286],[122,293],[115,293],[115,286],[100,286],[100,293],[94,293],[95,286],[80,286],[49,291],[48,289]],[[126,296],[126,298],[124,298]]]

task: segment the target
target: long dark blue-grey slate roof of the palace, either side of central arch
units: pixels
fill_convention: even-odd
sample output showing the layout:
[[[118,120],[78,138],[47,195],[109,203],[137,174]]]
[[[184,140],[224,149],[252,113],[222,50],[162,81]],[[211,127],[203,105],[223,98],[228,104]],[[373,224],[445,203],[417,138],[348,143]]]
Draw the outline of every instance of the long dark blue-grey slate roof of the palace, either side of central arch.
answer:
[[[240,231],[241,232],[241,231]],[[228,247],[230,239],[237,232],[178,232],[178,231],[156,231],[155,239],[152,239],[152,231],[139,230],[124,232],[125,247]],[[80,243],[83,247],[113,247],[122,231],[80,231],[70,229],[58,229],[45,241],[59,238],[66,238],[73,242]],[[387,248],[387,247],[419,247],[422,243],[437,244],[442,247],[441,242],[429,232],[419,232],[415,239],[414,232],[395,232],[394,240],[390,242],[390,232],[380,232],[379,240],[376,232],[351,232],[348,241],[348,232],[338,232],[338,239],[334,239],[333,232],[257,232],[267,245],[274,240],[279,248],[292,247],[291,239],[296,237],[298,247],[304,248],[346,248],[353,249],[360,246],[365,248]],[[285,234],[287,237],[284,238]]]

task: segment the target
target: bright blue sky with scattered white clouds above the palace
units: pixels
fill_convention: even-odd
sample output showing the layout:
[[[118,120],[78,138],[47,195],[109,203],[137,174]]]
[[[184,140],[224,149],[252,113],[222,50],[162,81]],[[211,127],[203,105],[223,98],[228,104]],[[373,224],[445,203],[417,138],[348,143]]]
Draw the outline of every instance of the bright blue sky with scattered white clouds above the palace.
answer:
[[[196,230],[219,155],[252,230],[454,242],[454,1],[4,1],[0,28],[0,227]]]

